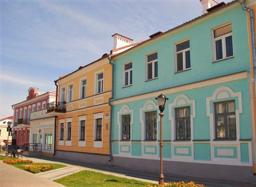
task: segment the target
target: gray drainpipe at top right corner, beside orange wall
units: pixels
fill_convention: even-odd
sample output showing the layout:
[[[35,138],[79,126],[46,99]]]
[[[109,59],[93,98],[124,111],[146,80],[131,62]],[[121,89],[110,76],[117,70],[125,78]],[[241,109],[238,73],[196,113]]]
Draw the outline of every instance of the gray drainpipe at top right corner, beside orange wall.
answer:
[[[242,5],[243,10],[250,13],[250,23],[251,23],[251,35],[252,35],[252,60],[253,60],[253,74],[254,74],[254,91],[256,94],[256,53],[255,53],[255,37],[254,37],[254,23],[253,23],[253,13],[252,9],[245,6],[245,0],[238,0]]]

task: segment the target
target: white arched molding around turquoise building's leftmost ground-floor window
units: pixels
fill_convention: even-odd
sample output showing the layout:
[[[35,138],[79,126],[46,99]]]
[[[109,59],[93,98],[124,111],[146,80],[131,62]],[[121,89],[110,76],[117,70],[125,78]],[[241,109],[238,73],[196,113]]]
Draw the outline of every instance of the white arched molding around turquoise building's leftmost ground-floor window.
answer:
[[[131,110],[130,108],[129,108],[129,106],[128,105],[123,105],[122,107],[121,107],[121,109],[120,109],[120,111],[118,111],[117,112],[117,125],[118,125],[118,139],[119,140],[121,140],[122,139],[122,137],[121,137],[121,134],[122,134],[122,129],[121,129],[121,115],[123,114],[123,115],[125,115],[125,114],[128,114],[128,113],[130,113],[131,114],[131,121],[130,121],[130,125],[132,126],[132,124],[133,124],[133,110]],[[130,133],[131,133],[131,137],[130,137],[130,139],[132,139],[132,127],[131,127],[131,129],[130,129]]]

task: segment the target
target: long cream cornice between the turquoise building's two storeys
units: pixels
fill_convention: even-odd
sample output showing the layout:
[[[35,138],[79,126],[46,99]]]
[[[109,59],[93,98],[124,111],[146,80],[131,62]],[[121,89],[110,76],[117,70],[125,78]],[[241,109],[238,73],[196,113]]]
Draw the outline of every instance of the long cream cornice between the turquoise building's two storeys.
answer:
[[[240,80],[240,79],[247,79],[247,78],[248,78],[248,71],[243,71],[243,72],[234,73],[231,75],[203,80],[203,81],[190,83],[186,85],[175,86],[175,87],[167,88],[163,90],[157,90],[157,91],[146,93],[146,94],[135,95],[132,97],[127,97],[127,98],[119,99],[116,101],[111,101],[111,103],[113,105],[117,105],[117,104],[127,103],[131,101],[137,101],[137,100],[147,99],[151,97],[156,97],[157,95],[160,95],[160,94],[165,94],[165,95],[173,94],[181,91],[187,91],[187,90],[192,90],[192,89],[197,89],[201,87],[212,86],[212,85],[217,85],[217,84],[222,84],[226,82],[231,82],[231,81]]]

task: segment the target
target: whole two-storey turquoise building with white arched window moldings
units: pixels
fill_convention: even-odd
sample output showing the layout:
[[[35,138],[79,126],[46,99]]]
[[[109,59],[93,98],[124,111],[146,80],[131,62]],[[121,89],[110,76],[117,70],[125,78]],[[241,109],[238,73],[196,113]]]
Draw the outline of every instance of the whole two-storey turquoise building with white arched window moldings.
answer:
[[[252,87],[246,11],[238,1],[157,33],[112,59],[112,162],[163,173],[253,182]]]

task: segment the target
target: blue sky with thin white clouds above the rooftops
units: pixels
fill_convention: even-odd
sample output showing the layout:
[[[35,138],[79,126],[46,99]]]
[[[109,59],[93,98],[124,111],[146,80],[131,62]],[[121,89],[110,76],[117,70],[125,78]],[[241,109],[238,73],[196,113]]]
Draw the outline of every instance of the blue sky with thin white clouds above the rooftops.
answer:
[[[142,41],[200,15],[199,0],[1,0],[0,119],[30,87],[56,90],[54,80],[109,54],[113,34]]]

